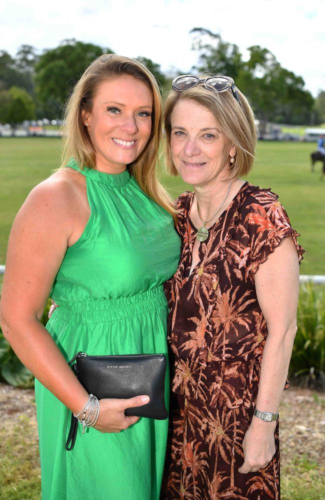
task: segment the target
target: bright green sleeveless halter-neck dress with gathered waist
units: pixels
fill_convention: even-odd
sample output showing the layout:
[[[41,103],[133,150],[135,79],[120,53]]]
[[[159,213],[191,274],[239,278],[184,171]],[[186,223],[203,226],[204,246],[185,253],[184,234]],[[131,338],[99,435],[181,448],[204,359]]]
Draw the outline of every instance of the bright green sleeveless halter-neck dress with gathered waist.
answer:
[[[75,163],[68,166],[79,170]],[[68,361],[91,355],[167,354],[162,283],[178,265],[172,217],[126,170],[84,168],[90,217],[69,247],[51,297],[46,328]],[[166,374],[168,407],[169,374]],[[141,418],[119,433],[93,428],[65,451],[70,414],[35,380],[43,500],[157,500],[168,420]]]

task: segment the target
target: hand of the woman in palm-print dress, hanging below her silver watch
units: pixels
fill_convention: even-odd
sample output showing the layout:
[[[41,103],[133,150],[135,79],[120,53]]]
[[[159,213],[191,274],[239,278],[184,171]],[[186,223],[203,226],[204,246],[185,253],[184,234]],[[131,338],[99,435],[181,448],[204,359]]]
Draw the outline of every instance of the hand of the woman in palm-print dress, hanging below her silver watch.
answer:
[[[276,422],[255,422],[253,417],[243,441],[244,462],[238,468],[241,474],[256,472],[266,467],[275,453],[274,428]]]

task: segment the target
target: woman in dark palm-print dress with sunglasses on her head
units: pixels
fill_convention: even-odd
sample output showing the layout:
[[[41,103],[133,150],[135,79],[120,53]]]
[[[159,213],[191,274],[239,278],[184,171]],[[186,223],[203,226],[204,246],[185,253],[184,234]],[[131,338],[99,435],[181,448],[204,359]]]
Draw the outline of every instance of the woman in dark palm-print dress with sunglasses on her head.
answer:
[[[166,283],[174,354],[161,498],[279,499],[278,405],[296,331],[303,249],[270,189],[241,176],[256,143],[224,75],[183,75],[164,108],[182,254]]]

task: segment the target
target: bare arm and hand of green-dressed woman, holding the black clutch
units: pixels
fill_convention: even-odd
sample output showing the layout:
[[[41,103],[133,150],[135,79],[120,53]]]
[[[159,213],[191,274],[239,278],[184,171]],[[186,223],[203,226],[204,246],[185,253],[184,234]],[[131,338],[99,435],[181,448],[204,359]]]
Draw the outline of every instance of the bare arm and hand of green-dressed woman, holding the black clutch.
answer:
[[[22,363],[73,413],[88,394],[40,323],[44,305],[73,232],[73,191],[48,179],[34,188],[19,210],[9,237],[0,315],[3,334]],[[118,432],[137,421],[124,409],[147,402],[103,399],[96,428]]]

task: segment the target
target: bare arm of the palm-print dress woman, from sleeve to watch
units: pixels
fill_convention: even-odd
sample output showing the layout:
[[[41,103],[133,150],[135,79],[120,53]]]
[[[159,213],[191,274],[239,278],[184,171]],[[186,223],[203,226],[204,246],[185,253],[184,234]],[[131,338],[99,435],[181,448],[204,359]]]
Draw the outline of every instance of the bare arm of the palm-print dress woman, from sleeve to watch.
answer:
[[[268,330],[256,407],[274,412],[283,393],[297,330],[299,264],[291,236],[286,237],[257,270],[255,286]]]

